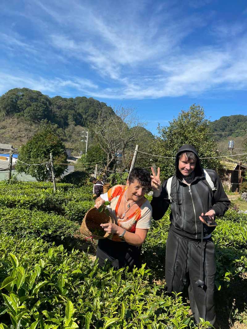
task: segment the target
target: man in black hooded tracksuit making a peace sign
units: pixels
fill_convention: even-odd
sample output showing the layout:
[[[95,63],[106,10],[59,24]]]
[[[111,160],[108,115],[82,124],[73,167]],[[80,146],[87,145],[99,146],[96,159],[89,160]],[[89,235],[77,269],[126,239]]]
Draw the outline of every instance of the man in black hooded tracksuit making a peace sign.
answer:
[[[214,170],[206,169],[210,177],[206,179],[193,146],[179,148],[175,165],[176,174],[170,188],[168,180],[161,185],[159,168],[157,175],[152,169],[151,176],[153,219],[162,218],[171,204],[171,226],[166,243],[166,287],[168,292],[178,293],[183,291],[184,285],[188,285],[196,322],[199,323],[202,317],[213,325],[215,250],[211,233],[215,227],[203,224],[200,216],[223,216],[230,201]],[[211,180],[213,188],[208,180]]]

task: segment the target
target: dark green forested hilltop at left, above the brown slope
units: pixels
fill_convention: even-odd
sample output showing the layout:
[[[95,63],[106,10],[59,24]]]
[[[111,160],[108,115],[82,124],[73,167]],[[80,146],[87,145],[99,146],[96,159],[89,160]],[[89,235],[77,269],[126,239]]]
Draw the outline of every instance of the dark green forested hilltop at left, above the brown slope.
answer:
[[[60,128],[66,128],[71,123],[87,127],[103,108],[115,115],[111,107],[94,98],[50,98],[28,88],[11,89],[0,97],[0,118],[14,115],[15,118],[25,118],[32,122],[47,119]]]

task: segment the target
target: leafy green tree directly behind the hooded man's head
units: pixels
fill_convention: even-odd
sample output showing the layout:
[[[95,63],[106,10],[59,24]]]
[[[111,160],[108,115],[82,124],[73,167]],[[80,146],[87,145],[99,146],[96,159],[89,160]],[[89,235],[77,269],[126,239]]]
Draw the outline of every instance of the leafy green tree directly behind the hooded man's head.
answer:
[[[161,168],[163,178],[174,175],[176,153],[184,144],[193,145],[200,158],[218,156],[217,146],[210,135],[209,120],[200,105],[191,105],[188,111],[181,111],[167,127],[159,127],[160,140],[154,143],[154,154],[169,158],[153,158]],[[202,159],[203,167],[217,170],[219,159]]]

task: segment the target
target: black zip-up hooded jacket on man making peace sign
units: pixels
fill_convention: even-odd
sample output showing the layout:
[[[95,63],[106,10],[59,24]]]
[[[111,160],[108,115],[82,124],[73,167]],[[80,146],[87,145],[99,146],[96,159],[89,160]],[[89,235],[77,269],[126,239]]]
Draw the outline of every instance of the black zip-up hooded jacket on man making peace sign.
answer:
[[[179,155],[183,152],[193,152],[197,157],[194,169],[195,176],[190,186],[183,183],[183,177],[178,169]],[[171,203],[171,229],[179,235],[191,239],[200,239],[202,222],[199,216],[210,209],[215,211],[215,216],[223,216],[230,201],[217,173],[214,170],[206,169],[216,190],[210,188],[204,176],[198,153],[193,146],[186,144],[179,148],[176,154],[175,166],[176,173],[171,185],[173,201],[171,203],[168,199],[167,180],[165,180],[160,196],[152,198],[152,217],[154,220],[161,219]],[[213,229],[214,227],[204,225],[204,237],[208,236]]]

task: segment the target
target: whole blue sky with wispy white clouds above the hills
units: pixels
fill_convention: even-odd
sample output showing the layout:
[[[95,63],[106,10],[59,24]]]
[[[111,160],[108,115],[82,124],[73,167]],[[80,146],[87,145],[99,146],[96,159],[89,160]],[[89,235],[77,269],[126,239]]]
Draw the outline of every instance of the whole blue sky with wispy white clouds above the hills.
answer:
[[[247,115],[245,0],[3,0],[0,13],[0,94],[122,104],[153,133],[193,103]]]

